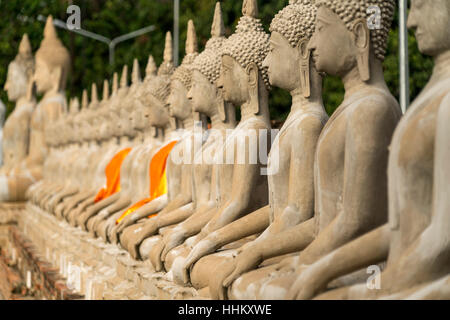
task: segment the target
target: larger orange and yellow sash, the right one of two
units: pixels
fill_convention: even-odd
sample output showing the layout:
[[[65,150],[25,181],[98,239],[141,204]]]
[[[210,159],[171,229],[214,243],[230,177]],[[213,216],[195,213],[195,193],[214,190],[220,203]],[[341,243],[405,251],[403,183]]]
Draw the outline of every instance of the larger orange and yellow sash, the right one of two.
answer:
[[[162,147],[150,161],[150,197],[143,199],[131,207],[129,207],[125,213],[117,219],[116,223],[120,223],[126,216],[135,212],[139,208],[143,207],[147,203],[167,193],[167,176],[166,176],[166,164],[170,151],[177,144],[178,141],[172,141],[169,144]],[[153,214],[149,218],[156,216]]]

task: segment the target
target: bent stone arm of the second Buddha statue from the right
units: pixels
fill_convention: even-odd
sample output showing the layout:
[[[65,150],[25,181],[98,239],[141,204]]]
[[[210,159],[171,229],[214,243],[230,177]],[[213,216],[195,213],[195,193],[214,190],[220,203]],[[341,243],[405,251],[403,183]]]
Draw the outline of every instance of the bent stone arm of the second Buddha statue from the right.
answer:
[[[314,263],[387,221],[384,190],[395,116],[389,106],[377,102],[360,104],[348,117],[342,209],[300,254],[299,265]]]

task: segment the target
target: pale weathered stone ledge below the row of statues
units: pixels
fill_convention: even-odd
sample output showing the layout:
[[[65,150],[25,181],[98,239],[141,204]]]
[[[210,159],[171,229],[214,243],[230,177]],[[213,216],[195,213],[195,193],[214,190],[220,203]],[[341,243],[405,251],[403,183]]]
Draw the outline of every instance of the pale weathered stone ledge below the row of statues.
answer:
[[[69,287],[87,300],[197,299],[192,287],[174,284],[156,273],[148,261],[136,261],[117,245],[108,244],[81,228],[28,203],[19,229],[36,246]]]

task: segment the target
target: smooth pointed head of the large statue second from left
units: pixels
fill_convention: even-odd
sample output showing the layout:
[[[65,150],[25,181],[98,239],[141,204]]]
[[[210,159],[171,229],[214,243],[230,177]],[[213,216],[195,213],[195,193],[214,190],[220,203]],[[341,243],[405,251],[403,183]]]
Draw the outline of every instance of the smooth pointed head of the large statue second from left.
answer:
[[[59,40],[53,18],[49,16],[44,29],[44,40],[36,52],[34,80],[38,92],[60,92],[66,87],[70,55]]]

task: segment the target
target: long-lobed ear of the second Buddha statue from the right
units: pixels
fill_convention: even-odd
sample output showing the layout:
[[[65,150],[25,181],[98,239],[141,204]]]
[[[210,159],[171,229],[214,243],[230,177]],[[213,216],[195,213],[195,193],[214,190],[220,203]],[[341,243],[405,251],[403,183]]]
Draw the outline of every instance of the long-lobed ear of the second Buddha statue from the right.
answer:
[[[370,30],[365,19],[357,19],[353,25],[353,36],[357,49],[356,61],[361,80],[370,80]]]

